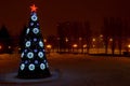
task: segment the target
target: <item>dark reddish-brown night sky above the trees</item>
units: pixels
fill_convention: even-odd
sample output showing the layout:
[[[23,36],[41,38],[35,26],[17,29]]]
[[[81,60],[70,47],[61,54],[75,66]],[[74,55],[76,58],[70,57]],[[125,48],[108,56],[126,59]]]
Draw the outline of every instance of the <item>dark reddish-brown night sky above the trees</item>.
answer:
[[[103,17],[130,16],[129,0],[0,0],[0,25],[12,35],[20,34],[28,24],[30,9],[38,6],[40,27],[44,35],[56,33],[56,24],[66,20],[89,20],[91,28],[101,28]]]

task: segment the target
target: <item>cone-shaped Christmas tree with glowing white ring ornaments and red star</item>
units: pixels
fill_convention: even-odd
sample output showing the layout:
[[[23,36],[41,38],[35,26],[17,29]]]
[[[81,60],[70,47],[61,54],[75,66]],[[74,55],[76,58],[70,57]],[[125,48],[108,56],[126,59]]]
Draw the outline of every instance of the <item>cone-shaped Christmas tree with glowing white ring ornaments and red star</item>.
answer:
[[[46,57],[43,38],[40,31],[37,8],[30,6],[30,20],[25,35],[25,45],[21,55],[20,78],[41,78],[50,76]]]

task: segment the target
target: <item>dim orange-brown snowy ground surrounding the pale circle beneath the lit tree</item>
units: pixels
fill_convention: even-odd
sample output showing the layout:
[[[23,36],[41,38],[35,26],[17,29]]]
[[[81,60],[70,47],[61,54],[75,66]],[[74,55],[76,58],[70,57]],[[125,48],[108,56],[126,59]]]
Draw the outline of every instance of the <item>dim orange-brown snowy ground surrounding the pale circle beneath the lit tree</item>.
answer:
[[[130,58],[53,53],[50,70],[60,77],[40,83],[0,83],[0,86],[130,86]],[[17,72],[20,55],[0,55],[0,74]]]

